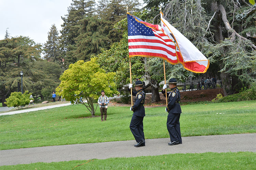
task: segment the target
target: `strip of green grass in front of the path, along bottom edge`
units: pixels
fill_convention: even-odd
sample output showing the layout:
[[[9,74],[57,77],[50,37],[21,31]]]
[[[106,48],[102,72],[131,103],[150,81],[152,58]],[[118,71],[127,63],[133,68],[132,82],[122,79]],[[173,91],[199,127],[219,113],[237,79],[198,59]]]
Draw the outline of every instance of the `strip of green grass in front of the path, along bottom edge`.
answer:
[[[228,153],[187,153],[168,154],[159,156],[140,156],[131,158],[73,160],[69,162],[33,163],[26,165],[1,166],[1,170],[13,169],[127,169],[127,170],[255,170],[256,153],[253,152],[228,152]],[[86,163],[86,164],[83,164]],[[75,167],[77,165],[81,166]]]

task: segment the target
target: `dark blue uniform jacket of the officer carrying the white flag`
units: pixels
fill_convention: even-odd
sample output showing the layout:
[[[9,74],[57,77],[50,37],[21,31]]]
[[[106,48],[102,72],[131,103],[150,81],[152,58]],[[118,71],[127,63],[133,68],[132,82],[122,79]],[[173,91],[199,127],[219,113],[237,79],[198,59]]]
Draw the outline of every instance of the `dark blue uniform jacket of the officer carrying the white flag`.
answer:
[[[162,90],[163,96],[165,96],[165,91]],[[181,113],[181,106],[180,106],[180,100],[181,95],[179,89],[177,87],[174,87],[171,89],[170,92],[167,92],[168,96],[168,105],[166,107],[166,110],[168,113]]]

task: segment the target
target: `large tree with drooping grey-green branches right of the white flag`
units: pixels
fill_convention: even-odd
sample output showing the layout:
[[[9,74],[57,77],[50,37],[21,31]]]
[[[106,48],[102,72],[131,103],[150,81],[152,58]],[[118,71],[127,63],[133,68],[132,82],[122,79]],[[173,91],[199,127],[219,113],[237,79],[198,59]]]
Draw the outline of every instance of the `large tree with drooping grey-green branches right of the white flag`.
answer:
[[[149,6],[153,4],[152,0],[146,1]],[[255,81],[255,70],[251,67],[256,49],[255,13],[246,20],[235,19],[241,11],[251,8],[245,1],[158,1],[160,4],[165,6],[164,17],[208,56],[208,70],[220,73],[225,95]],[[172,75],[179,76],[180,69],[173,68]]]

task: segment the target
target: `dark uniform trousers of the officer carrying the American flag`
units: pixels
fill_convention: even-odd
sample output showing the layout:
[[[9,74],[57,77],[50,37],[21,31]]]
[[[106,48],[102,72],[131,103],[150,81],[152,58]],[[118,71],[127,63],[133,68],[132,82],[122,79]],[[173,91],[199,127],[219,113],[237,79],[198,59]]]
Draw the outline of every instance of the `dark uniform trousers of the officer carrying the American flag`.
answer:
[[[143,118],[140,116],[132,116],[130,123],[130,130],[133,134],[136,142],[145,140],[144,132],[143,132]]]

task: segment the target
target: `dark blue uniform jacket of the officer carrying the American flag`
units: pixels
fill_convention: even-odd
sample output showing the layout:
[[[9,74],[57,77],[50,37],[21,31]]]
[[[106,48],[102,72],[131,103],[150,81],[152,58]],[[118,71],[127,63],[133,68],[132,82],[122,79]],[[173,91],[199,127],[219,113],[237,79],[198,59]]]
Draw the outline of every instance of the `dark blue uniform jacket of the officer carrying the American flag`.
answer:
[[[135,102],[134,105],[131,107],[131,110],[133,111],[134,116],[140,116],[144,117],[145,116],[145,108],[144,108],[144,103],[145,103],[145,91],[143,89],[136,91],[132,91],[132,96],[135,97]]]

